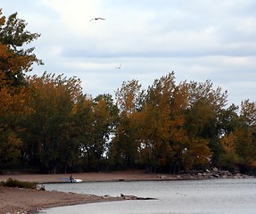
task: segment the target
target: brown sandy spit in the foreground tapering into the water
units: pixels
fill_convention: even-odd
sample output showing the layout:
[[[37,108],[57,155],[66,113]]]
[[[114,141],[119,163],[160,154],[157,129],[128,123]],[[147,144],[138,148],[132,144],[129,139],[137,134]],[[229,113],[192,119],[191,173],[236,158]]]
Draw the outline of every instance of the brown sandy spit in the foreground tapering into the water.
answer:
[[[0,186],[1,214],[36,214],[47,208],[72,206],[94,202],[116,202],[121,197],[103,197],[93,194],[63,193]]]

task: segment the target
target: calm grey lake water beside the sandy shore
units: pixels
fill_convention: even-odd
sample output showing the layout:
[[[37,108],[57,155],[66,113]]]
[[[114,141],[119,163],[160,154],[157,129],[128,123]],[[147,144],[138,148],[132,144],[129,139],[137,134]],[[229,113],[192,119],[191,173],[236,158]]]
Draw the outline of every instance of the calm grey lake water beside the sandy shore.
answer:
[[[45,185],[46,190],[158,200],[100,202],[43,210],[45,214],[252,214],[256,213],[256,179],[88,182]]]

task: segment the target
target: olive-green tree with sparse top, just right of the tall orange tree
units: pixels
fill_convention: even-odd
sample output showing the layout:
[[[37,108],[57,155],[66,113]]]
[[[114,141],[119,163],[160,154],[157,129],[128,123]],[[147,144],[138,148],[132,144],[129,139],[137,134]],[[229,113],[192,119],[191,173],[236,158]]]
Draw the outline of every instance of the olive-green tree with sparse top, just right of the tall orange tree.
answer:
[[[227,105],[227,91],[221,87],[213,88],[210,80],[205,82],[191,81],[189,83],[189,105],[186,110],[186,130],[190,139],[204,142],[205,157],[213,165],[218,165],[221,144],[219,136],[221,128],[221,112]],[[211,152],[208,149],[211,149]]]

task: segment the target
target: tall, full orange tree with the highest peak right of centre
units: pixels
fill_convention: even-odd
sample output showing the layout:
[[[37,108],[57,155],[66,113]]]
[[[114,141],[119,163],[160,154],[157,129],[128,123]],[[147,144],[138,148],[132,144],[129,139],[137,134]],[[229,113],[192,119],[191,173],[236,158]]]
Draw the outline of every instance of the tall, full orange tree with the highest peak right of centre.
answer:
[[[141,111],[144,119],[140,139],[140,154],[147,169],[179,171],[186,149],[184,111],[187,106],[187,86],[176,86],[174,72],[156,79],[147,91]]]

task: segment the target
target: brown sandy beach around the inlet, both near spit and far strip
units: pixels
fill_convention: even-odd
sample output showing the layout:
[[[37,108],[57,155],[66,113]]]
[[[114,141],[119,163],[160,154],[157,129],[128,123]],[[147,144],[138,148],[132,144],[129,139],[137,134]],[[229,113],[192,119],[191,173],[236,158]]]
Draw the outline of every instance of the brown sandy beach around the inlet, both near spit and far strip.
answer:
[[[246,178],[241,174],[228,174],[228,172],[206,172],[186,175],[170,175],[170,174],[153,174],[144,171],[115,171],[100,173],[74,173],[74,178],[82,179],[83,182],[100,182],[100,181],[147,181],[147,180],[177,180],[177,179],[208,179],[208,178]],[[69,174],[19,174],[19,175],[2,175],[0,181],[8,178],[21,181],[45,183],[65,182],[61,178],[70,177]],[[62,193],[57,191],[39,191],[31,189],[7,188],[0,186],[0,214],[6,213],[37,213],[38,210],[91,202],[111,202],[124,200],[122,197],[104,197],[102,195],[78,194],[78,193]]]

